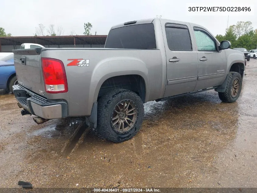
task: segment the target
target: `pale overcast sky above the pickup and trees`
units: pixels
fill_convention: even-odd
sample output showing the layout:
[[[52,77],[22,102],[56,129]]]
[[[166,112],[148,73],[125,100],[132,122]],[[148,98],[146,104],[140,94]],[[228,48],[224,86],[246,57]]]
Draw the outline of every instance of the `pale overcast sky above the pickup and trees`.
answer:
[[[232,0],[233,2],[237,0]],[[189,16],[186,3],[208,2],[206,0],[0,0],[0,27],[12,36],[33,36],[35,27],[42,23],[45,35],[50,24],[62,26],[64,35],[83,35],[84,22],[92,23],[92,34],[107,35],[111,26],[132,20],[162,18],[200,24],[212,34],[224,34],[227,27],[227,16]],[[209,1],[210,2],[210,1]],[[223,6],[223,1],[211,1],[216,6]],[[242,2],[242,1],[239,1]],[[244,1],[245,6],[252,1]],[[254,2],[254,1],[253,1]],[[256,4],[256,3],[255,3]],[[257,8],[256,8],[257,9]],[[257,28],[255,16],[229,16],[228,26],[237,21],[252,22]],[[74,35],[75,35],[74,34]]]

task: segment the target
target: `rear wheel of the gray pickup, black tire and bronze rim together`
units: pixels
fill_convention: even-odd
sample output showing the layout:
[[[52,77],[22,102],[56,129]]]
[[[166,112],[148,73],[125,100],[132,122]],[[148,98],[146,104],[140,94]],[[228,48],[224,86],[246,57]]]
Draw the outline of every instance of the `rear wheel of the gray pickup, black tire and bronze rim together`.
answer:
[[[96,130],[110,141],[132,138],[140,129],[143,118],[143,102],[133,91],[116,89],[97,102]]]

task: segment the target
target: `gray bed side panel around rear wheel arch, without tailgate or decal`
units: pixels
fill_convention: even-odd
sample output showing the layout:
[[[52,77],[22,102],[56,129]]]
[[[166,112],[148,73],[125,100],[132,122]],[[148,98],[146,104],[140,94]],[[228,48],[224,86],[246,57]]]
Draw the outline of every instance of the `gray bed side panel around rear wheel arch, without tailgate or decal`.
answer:
[[[162,98],[160,50],[123,49],[52,49],[44,50],[42,57],[56,58],[64,63],[68,92],[49,94],[48,99],[68,101],[69,116],[89,116],[102,83],[110,77],[137,74],[146,85],[146,101]],[[89,66],[67,66],[68,59],[89,59]]]

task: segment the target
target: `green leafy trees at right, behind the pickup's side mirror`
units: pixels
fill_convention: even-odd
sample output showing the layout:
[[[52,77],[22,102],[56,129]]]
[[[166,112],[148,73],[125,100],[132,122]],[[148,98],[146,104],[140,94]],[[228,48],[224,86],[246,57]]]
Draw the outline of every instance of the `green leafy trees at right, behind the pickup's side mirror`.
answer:
[[[225,35],[217,35],[219,42],[227,40],[231,42],[231,48],[255,49],[257,45],[257,29],[253,30],[252,22],[238,21],[226,29]]]

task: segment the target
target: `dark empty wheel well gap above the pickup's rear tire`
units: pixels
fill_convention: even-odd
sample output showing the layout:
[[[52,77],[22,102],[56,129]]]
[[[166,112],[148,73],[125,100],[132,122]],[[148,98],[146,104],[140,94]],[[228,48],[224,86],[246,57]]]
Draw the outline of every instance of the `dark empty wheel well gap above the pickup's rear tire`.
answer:
[[[145,82],[143,77],[139,75],[122,75],[108,78],[102,84],[97,100],[106,92],[111,90],[122,88],[133,91],[140,96],[142,101],[145,101]]]

